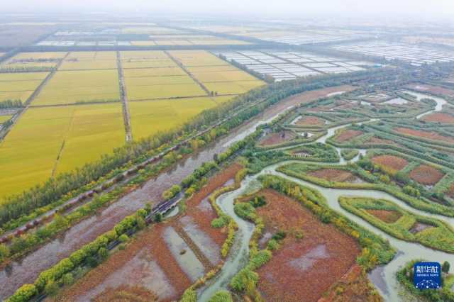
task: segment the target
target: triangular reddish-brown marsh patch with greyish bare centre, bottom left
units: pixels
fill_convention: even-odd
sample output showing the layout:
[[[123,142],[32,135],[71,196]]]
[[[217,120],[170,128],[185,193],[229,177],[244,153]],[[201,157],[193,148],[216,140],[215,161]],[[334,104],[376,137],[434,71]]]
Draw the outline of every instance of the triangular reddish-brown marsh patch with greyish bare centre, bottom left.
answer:
[[[141,232],[126,249],[115,252],[55,300],[87,301],[118,286],[147,286],[162,301],[178,298],[192,282],[162,240],[167,225],[161,223]]]

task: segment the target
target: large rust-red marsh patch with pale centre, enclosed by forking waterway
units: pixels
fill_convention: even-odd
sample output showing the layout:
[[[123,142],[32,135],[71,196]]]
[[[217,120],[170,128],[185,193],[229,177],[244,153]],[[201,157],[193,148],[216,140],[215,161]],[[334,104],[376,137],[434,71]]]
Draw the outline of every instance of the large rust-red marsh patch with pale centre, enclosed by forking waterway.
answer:
[[[357,242],[321,223],[292,198],[270,189],[259,194],[267,199],[267,205],[258,208],[264,233],[284,230],[287,237],[258,270],[258,289],[266,301],[317,301],[355,264]],[[297,230],[304,233],[302,239],[294,236]]]

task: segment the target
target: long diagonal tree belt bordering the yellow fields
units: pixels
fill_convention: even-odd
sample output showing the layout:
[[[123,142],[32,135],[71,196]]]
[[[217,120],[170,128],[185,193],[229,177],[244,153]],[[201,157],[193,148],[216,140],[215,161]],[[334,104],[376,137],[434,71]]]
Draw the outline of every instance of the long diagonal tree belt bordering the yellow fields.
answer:
[[[238,112],[240,108],[245,108],[249,104],[254,104],[258,100],[263,100],[260,104],[250,106],[239,111],[236,116],[223,123],[217,130],[219,133],[228,133],[228,130],[235,128],[249,118],[261,113],[268,106],[278,101],[303,91],[321,89],[326,86],[336,86],[340,84],[353,84],[358,81],[367,81],[373,74],[392,74],[394,71],[377,69],[373,72],[359,72],[351,76],[342,77],[340,75],[326,75],[314,79],[296,79],[270,84],[268,86],[253,89],[242,96],[238,96],[231,102],[209,109],[192,118],[192,121],[185,123],[181,128],[170,130],[151,136],[145,140],[132,142],[123,147],[117,148],[110,155],[103,155],[97,162],[85,164],[84,167],[75,169],[73,172],[59,174],[57,177],[48,179],[44,184],[24,191],[17,196],[9,196],[0,206],[0,225],[9,220],[20,218],[35,209],[55,203],[64,198],[68,193],[79,193],[80,188],[91,184],[100,177],[109,174],[128,163],[142,162],[150,155],[161,152],[165,147],[181,141],[183,138],[201,130],[216,121],[231,116],[233,112]],[[373,78],[373,77],[372,77]],[[204,138],[210,141],[210,133],[206,133]]]

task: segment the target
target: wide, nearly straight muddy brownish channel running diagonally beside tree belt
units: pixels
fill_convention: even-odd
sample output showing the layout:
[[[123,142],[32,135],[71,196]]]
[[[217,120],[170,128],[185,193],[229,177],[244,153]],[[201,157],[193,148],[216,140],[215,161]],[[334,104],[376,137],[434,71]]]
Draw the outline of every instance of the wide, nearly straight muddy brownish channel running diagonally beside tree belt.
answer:
[[[162,173],[154,179],[150,179],[139,189],[123,196],[115,203],[104,208],[102,211],[82,220],[72,226],[65,235],[52,240],[31,254],[23,257],[20,261],[12,262],[11,265],[0,271],[0,300],[3,301],[23,284],[35,281],[40,272],[49,269],[61,259],[68,257],[80,247],[92,242],[96,237],[105,233],[120,222],[124,217],[135,213],[147,203],[162,201],[161,194],[172,184],[181,183],[184,177],[191,174],[202,163],[213,159],[215,154],[225,151],[233,142],[241,140],[252,133],[258,124],[267,123],[279,113],[295,106],[301,101],[312,101],[323,98],[328,94],[338,91],[350,91],[351,86],[333,86],[316,91],[307,91],[304,94],[289,97],[279,103],[270,106],[259,116],[248,123],[232,130],[226,137],[218,140],[208,147],[196,152],[183,162],[177,164],[167,173]]]

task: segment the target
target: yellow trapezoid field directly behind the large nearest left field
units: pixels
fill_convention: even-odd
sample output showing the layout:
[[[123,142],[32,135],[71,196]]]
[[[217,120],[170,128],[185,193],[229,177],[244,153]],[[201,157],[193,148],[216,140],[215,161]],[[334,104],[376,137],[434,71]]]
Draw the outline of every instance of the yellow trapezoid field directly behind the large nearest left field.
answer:
[[[119,99],[116,69],[58,71],[32,102],[32,106]]]

